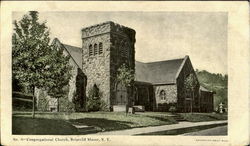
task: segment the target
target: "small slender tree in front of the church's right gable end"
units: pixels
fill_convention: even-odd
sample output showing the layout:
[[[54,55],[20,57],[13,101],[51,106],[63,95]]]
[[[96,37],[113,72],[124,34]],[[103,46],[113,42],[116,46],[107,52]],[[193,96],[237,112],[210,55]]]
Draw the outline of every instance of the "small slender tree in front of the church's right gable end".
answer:
[[[198,81],[196,79],[196,76],[194,75],[194,73],[191,73],[184,81],[184,89],[186,92],[191,92],[192,93],[192,99],[191,99],[191,113],[193,113],[193,101],[194,101],[194,92],[195,89],[198,86]]]

